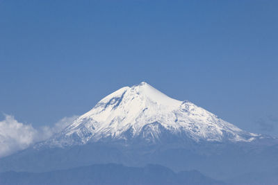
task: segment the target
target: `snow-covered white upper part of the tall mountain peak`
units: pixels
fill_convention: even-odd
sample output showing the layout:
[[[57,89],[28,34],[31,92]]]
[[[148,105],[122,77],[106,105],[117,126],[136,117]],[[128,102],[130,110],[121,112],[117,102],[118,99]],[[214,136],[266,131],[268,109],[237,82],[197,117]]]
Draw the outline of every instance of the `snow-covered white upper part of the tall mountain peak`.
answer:
[[[106,96],[65,130],[40,145],[72,146],[138,138],[156,143],[165,133],[197,142],[249,142],[259,136],[240,130],[189,101],[175,100],[141,82]]]

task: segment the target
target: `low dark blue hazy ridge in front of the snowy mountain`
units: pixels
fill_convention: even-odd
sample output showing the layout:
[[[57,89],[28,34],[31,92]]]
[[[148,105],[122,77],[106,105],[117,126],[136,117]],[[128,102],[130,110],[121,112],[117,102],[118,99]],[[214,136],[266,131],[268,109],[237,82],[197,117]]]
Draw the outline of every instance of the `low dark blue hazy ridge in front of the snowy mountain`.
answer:
[[[0,173],[1,185],[221,185],[224,182],[205,177],[197,171],[174,173],[159,165],[147,165],[142,168],[126,167],[119,164],[95,164],[67,170],[46,173]]]

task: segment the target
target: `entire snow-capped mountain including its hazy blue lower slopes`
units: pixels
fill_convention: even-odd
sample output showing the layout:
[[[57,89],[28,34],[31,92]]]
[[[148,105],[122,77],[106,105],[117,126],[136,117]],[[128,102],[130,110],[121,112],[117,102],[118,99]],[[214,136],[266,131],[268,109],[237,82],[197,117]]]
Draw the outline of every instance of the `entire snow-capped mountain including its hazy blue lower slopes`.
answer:
[[[240,130],[187,100],[174,100],[141,82],[106,96],[51,139],[0,159],[0,171],[32,176],[108,163],[160,164],[233,182],[258,173],[276,174],[278,140]],[[276,181],[275,175],[264,177]]]

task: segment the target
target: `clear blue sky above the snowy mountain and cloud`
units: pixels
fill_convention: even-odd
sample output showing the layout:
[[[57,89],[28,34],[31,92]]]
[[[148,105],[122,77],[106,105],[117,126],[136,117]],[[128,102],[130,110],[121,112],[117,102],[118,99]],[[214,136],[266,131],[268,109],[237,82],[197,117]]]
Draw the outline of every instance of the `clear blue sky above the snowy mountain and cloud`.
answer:
[[[278,136],[277,10],[277,0],[0,0],[0,112],[54,125],[146,81]]]

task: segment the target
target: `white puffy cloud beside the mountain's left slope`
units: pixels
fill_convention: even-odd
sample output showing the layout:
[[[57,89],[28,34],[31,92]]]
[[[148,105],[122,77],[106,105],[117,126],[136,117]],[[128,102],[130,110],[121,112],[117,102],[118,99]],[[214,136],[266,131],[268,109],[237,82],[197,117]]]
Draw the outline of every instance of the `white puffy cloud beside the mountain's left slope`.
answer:
[[[5,115],[5,119],[0,121],[0,157],[23,150],[35,142],[48,139],[67,127],[77,117],[65,117],[58,121],[54,127],[44,126],[35,129],[32,125],[19,123],[13,116]]]

